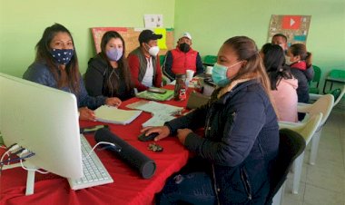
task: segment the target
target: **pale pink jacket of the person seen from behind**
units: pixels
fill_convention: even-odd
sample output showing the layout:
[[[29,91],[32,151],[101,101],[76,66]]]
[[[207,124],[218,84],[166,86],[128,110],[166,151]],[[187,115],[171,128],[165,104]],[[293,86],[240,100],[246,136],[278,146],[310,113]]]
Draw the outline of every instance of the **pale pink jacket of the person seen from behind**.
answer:
[[[273,101],[278,110],[280,121],[297,122],[297,79],[281,79],[277,90],[271,91]]]

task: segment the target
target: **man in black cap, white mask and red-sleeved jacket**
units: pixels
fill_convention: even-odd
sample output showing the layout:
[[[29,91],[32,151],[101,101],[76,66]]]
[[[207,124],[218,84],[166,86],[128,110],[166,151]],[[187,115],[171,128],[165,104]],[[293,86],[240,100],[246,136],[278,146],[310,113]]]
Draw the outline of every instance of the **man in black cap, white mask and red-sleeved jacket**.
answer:
[[[149,87],[162,86],[162,71],[158,58],[159,47],[157,46],[157,39],[161,38],[162,34],[143,30],[138,38],[140,46],[128,55],[132,81],[139,92],[145,91]]]

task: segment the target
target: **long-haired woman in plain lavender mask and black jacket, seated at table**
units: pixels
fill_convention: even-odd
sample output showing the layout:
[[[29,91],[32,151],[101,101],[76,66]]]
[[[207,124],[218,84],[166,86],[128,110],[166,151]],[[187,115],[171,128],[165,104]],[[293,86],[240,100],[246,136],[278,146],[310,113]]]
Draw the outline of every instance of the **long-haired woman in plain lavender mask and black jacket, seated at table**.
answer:
[[[120,102],[134,96],[125,44],[119,33],[106,32],[102,37],[101,52],[88,64],[84,80],[91,96],[116,97]]]

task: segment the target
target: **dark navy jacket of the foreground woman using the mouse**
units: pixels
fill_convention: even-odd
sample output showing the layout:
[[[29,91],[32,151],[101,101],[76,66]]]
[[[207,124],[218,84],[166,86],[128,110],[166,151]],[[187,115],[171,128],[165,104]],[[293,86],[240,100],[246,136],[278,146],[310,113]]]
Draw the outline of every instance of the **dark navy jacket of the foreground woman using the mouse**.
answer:
[[[172,133],[179,128],[204,127],[205,137],[192,132],[185,146],[212,166],[221,204],[264,204],[271,162],[278,153],[276,114],[256,80],[239,83],[215,99],[218,92],[207,105],[166,125]]]

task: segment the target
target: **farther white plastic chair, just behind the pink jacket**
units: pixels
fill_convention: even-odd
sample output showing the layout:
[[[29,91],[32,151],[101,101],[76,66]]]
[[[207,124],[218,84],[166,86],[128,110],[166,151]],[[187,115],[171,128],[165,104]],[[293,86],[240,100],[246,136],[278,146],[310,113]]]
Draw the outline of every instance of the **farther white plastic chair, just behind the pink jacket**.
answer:
[[[322,132],[323,125],[330,116],[331,109],[333,108],[334,97],[331,94],[322,95],[316,102],[312,104],[302,104],[299,103],[297,106],[298,112],[308,113],[308,115],[313,115],[315,113],[322,112],[322,120],[311,140],[311,158],[309,163],[311,165],[315,164],[316,156],[318,154],[320,135]],[[308,116],[307,116],[308,117]]]

